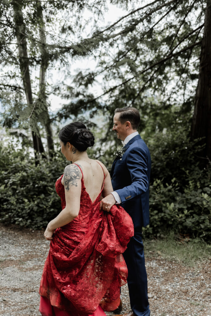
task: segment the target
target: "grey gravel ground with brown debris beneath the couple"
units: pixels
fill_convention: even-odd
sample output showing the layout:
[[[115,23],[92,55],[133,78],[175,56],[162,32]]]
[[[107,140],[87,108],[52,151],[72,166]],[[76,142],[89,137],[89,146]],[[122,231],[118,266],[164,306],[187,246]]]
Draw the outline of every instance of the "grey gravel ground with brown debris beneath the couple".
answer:
[[[0,224],[0,315],[40,316],[39,285],[49,242],[43,231]],[[211,269],[146,257],[151,316],[211,316]],[[123,313],[130,310],[122,287]],[[114,313],[107,313],[114,316]]]

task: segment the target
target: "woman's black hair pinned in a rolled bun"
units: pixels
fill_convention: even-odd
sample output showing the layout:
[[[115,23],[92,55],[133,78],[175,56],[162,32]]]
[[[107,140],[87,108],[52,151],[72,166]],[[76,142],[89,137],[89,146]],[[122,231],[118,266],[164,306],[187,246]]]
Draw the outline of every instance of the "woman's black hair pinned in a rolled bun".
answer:
[[[92,132],[86,129],[86,125],[81,122],[73,122],[62,127],[59,132],[59,139],[66,145],[71,143],[79,151],[85,151],[95,143]]]

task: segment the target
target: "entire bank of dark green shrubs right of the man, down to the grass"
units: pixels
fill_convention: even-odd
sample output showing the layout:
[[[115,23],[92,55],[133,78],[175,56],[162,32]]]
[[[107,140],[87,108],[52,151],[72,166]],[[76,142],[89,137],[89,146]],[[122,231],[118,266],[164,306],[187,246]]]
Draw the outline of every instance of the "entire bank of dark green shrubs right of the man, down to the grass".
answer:
[[[192,147],[181,126],[167,135],[158,133],[151,142],[150,226],[145,228],[146,235],[159,236],[171,229],[210,238],[211,170],[199,167]]]

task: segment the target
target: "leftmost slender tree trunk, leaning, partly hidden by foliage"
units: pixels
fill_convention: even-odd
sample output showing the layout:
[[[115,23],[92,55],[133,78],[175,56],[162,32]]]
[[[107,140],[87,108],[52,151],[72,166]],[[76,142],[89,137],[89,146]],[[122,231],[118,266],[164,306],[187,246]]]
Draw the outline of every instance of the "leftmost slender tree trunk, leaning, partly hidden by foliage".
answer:
[[[26,99],[29,108],[33,111],[33,97],[32,97],[32,88],[31,88],[31,80],[29,73],[29,58],[27,53],[27,42],[26,42],[26,27],[23,21],[22,14],[22,1],[12,1],[12,6],[14,10],[14,21],[15,21],[15,30],[16,30],[16,38],[18,44],[18,52],[19,52],[19,65],[22,75],[23,87],[26,94]],[[38,130],[38,127],[37,127]],[[32,131],[32,139],[35,156],[37,153],[44,153],[44,148],[42,144],[42,140],[40,138],[39,130],[35,133]]]

